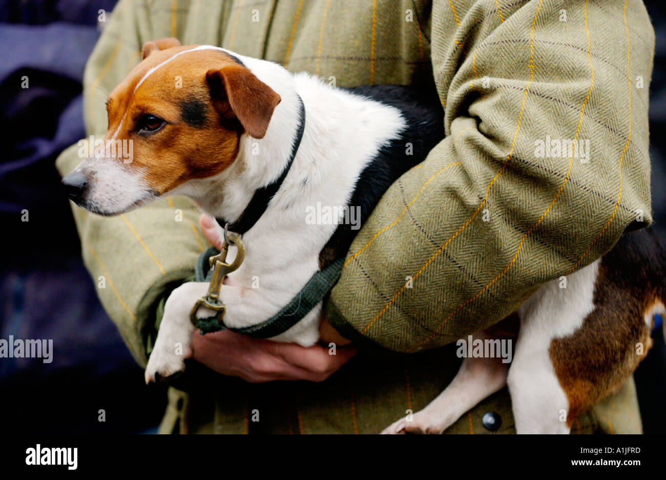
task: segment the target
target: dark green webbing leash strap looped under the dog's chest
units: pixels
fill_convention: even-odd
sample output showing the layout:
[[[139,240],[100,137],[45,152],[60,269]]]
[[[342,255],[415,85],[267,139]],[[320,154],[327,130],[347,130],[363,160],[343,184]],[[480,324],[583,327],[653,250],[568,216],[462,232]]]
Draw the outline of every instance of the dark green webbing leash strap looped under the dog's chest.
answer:
[[[220,253],[219,250],[210,247],[199,255],[194,267],[196,274],[194,281],[210,281],[212,269],[209,267],[210,263],[208,263],[208,259],[218,253]],[[254,338],[266,339],[276,337],[296,325],[328,295],[328,292],[331,291],[338,279],[340,279],[343,264],[344,258],[339,258],[325,269],[316,271],[300,293],[286,307],[258,325],[236,329],[220,325],[215,317],[209,317],[207,319],[196,319],[196,327],[201,330],[202,335],[228,328],[230,331]]]

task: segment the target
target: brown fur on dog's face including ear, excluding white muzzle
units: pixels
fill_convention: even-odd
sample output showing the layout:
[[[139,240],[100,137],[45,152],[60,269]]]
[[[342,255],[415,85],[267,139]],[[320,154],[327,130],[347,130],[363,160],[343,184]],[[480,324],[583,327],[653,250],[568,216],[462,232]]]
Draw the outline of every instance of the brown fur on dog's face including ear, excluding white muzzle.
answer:
[[[144,45],[145,60],[109,95],[105,137],[133,141],[129,168],[159,195],[229,167],[240,135],[263,137],[280,102],[231,55],[204,49],[174,57],[194,46],[164,45],[172,41]]]

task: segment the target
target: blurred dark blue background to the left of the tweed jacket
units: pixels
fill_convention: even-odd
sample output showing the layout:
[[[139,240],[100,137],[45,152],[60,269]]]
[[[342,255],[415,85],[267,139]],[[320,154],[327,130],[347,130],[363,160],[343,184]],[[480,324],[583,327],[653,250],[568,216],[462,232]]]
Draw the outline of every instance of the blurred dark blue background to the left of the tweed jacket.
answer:
[[[165,388],[143,383],[97,299],[55,169],[85,137],[83,68],[100,33],[97,11],[114,4],[0,0],[0,339],[53,339],[55,351],[49,364],[0,359],[7,433],[151,431],[166,405]]]

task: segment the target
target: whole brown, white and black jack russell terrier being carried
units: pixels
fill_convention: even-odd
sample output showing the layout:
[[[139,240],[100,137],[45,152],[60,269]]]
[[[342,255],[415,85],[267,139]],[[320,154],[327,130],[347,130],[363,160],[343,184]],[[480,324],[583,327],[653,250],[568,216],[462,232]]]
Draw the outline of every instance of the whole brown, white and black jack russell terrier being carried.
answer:
[[[409,87],[336,89],[275,63],[176,39],[146,43],[142,57],[107,102],[105,140],[132,140],[132,161],[109,151],[93,155],[63,184],[77,205],[100,215],[186,195],[211,217],[244,224],[236,231],[248,255],[220,289],[231,328],[271,317],[346,255],[356,230],[308,224],[308,206],[360,207],[366,219],[386,189],[444,138],[440,102]],[[174,87],[176,76],[182,88]],[[422,148],[405,155],[410,139]],[[228,255],[235,253],[230,247]],[[651,347],[653,317],[665,310],[665,264],[649,229],[625,234],[570,275],[567,289],[555,279],[519,307],[510,367],[464,359],[430,405],[384,433],[441,433],[504,385],[518,433],[569,433],[577,416],[633,373],[643,358],[637,343],[646,353]],[[260,289],[251,288],[254,275]],[[195,331],[190,309],[207,288],[184,283],[168,297],[147,382],[184,369]],[[321,317],[320,302],[272,340],[310,346]],[[497,326],[474,338],[496,335]],[[176,343],[184,355],[174,353]]]

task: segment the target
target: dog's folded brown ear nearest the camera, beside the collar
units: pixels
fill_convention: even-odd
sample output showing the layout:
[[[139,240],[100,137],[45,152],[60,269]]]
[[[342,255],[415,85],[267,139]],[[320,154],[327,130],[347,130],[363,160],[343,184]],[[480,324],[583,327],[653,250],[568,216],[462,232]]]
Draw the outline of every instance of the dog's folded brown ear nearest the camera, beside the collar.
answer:
[[[208,70],[206,81],[212,105],[223,119],[235,117],[250,137],[264,138],[280,95],[243,65]]]

